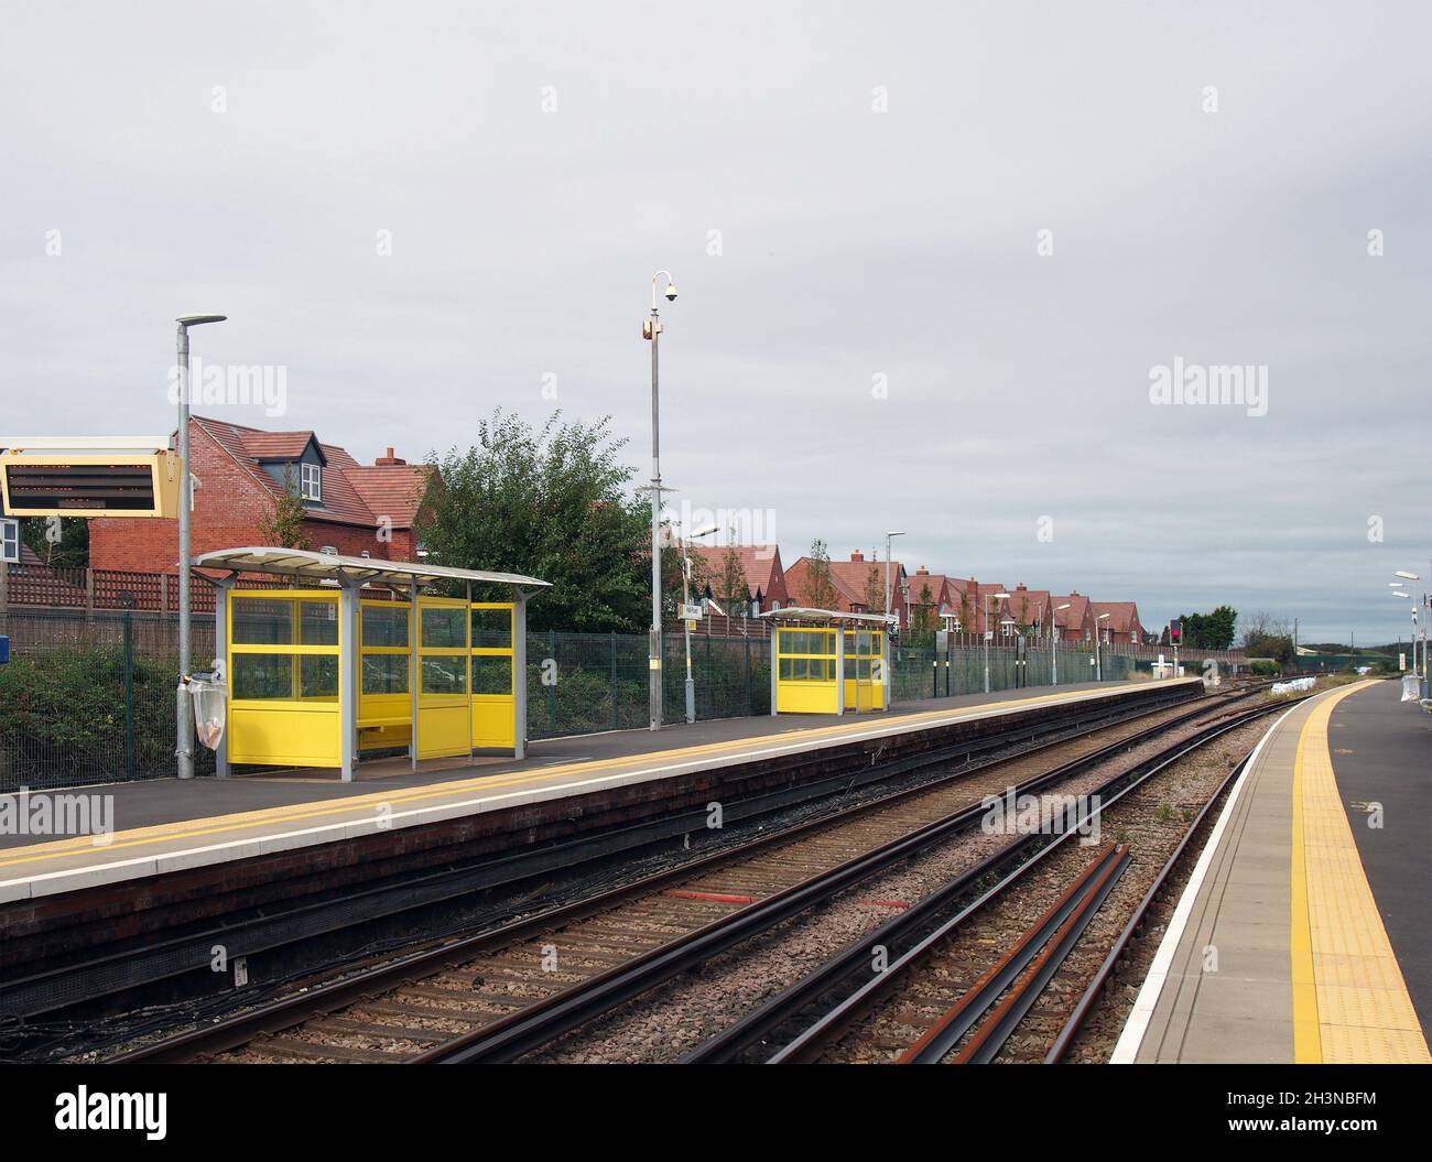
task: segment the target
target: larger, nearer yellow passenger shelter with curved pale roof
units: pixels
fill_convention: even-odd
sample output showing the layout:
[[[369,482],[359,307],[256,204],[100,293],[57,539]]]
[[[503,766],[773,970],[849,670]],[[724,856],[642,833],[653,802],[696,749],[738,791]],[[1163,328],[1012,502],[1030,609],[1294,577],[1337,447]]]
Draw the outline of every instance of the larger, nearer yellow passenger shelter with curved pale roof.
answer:
[[[216,751],[232,764],[334,767],[351,781],[364,750],[473,757],[527,744],[527,601],[548,582],[295,548],[193,558],[215,587],[215,644],[229,685]],[[242,574],[291,588],[238,588]],[[435,597],[437,582],[463,597]],[[474,601],[473,587],[507,591]]]

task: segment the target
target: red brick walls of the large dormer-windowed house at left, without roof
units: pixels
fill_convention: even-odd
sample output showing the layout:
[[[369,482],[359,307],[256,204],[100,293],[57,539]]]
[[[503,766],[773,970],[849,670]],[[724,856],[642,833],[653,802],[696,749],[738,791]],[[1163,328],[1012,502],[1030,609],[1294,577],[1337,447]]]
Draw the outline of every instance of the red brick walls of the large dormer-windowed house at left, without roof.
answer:
[[[221,548],[263,544],[259,521],[271,509],[272,495],[248,469],[211,439],[190,428],[189,449],[200,488],[195,494],[192,540],[195,555]],[[412,532],[395,529],[382,542],[375,528],[305,521],[305,531],[319,550],[332,545],[358,557],[367,550],[388,561],[412,560]],[[173,572],[179,567],[179,522],[142,517],[100,517],[90,521],[90,567],[136,572]]]

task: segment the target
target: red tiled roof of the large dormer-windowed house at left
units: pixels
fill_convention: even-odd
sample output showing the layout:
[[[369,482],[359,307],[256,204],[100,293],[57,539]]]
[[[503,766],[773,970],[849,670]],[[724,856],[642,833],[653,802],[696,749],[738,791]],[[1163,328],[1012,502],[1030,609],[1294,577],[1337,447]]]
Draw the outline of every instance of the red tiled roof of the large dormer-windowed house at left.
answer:
[[[193,422],[274,497],[284,495],[284,485],[259,461],[296,459],[314,439],[312,432],[265,432],[200,415]],[[324,502],[309,508],[311,519],[372,528],[379,517],[387,517],[394,528],[412,527],[427,485],[427,465],[362,465],[335,444],[318,446],[325,461]]]

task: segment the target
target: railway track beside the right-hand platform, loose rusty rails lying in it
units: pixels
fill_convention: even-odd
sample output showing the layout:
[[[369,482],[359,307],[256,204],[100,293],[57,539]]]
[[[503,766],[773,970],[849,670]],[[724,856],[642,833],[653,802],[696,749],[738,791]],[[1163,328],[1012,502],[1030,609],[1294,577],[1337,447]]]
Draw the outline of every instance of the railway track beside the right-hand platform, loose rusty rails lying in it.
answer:
[[[1150,809],[1160,778],[1279,708],[1257,707],[1206,726],[1131,773],[1107,780],[1093,810],[1103,829],[1116,827],[1118,834],[1093,859],[1074,843],[1077,827],[1028,836],[1020,844],[1024,850],[997,853],[971,867],[683,1060],[1060,1060],[1148,903],[1246,757],[1200,797],[1201,810],[1191,823],[1163,819],[1157,807]],[[1085,987],[1070,987],[1071,979],[1090,976],[1074,963],[1074,953],[1084,949],[1080,937],[1116,890],[1144,894],[1093,979]],[[888,954],[881,972],[871,967],[876,947]],[[1101,952],[1080,954],[1088,960]],[[1065,987],[1051,987],[1060,982]]]

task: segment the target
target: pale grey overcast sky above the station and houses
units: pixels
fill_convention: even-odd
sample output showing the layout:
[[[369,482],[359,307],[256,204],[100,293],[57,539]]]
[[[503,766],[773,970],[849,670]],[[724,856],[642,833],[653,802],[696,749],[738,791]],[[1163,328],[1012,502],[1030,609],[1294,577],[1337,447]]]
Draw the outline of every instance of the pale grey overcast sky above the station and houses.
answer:
[[[172,319],[222,311],[195,351],[286,414],[209,414],[415,459],[556,404],[646,477],[669,268],[664,477],[788,564],[901,528],[1146,625],[1388,641],[1432,565],[1429,11],[9,4],[0,435],[168,429]],[[1153,404],[1176,359],[1266,368],[1266,415]]]

